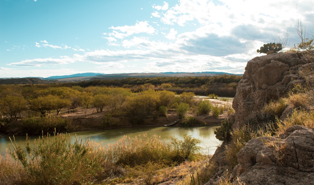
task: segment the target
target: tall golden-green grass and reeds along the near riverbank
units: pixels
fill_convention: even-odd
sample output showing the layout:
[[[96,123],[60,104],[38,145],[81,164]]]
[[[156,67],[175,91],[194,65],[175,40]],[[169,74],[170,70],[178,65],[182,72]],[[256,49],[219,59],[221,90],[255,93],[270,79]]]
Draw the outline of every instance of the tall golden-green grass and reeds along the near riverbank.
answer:
[[[124,136],[105,148],[87,138],[75,137],[71,143],[70,135],[55,133],[33,142],[27,137],[26,150],[14,137],[11,142],[11,157],[0,158],[0,184],[94,184],[131,171],[145,176],[149,184],[155,182],[152,175],[157,169],[194,160],[201,141],[185,135],[166,143],[144,134],[133,139]]]

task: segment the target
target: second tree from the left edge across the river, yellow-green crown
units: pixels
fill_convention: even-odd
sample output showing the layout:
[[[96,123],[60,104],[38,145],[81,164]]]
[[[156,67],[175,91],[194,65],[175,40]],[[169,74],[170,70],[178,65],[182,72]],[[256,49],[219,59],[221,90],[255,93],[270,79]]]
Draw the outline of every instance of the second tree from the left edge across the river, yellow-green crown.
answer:
[[[46,112],[56,108],[54,103],[54,96],[47,95],[47,96],[40,96],[33,100],[30,100],[31,110],[41,113],[41,117],[45,116]]]

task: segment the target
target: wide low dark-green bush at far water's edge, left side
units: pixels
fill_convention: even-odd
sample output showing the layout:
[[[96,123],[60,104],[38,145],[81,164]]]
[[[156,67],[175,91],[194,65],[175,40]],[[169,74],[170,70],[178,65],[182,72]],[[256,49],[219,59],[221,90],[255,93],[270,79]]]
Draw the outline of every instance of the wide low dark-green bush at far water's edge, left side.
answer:
[[[22,129],[25,134],[39,135],[42,132],[52,134],[55,130],[58,132],[70,132],[75,128],[70,119],[51,116],[23,119]]]

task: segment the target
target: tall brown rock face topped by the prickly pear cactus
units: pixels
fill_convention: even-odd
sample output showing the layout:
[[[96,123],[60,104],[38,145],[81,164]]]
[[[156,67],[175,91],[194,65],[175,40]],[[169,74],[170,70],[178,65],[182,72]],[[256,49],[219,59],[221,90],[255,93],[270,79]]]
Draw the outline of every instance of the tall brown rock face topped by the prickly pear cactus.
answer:
[[[248,116],[268,101],[288,93],[294,83],[304,83],[298,71],[307,63],[302,52],[274,53],[248,61],[233,100],[232,107],[236,112],[233,127],[240,127]]]

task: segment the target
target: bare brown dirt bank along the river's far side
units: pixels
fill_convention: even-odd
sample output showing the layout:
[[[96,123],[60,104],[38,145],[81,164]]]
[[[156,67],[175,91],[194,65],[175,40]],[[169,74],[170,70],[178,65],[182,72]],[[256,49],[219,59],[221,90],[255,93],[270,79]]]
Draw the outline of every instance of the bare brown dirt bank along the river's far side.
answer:
[[[198,98],[196,98],[198,99]],[[232,101],[222,101],[219,99],[208,99],[211,101],[213,105],[225,105],[230,107],[232,105]],[[52,112],[52,111],[51,111]],[[59,115],[54,113],[48,114],[48,116],[56,116],[61,117],[63,119],[71,120],[71,128],[69,128],[70,132],[77,131],[86,131],[86,130],[107,130],[107,129],[116,129],[116,128],[127,128],[127,127],[147,127],[147,126],[164,126],[167,123],[173,122],[179,117],[176,114],[175,109],[169,109],[167,117],[159,116],[157,118],[148,118],[145,119],[145,122],[142,124],[131,124],[129,119],[121,116],[111,116],[108,115],[106,111],[97,112],[95,108],[89,108],[85,111],[83,108],[76,108],[74,111],[63,110]],[[192,110],[188,111],[186,116],[194,117],[198,120],[199,123],[205,123],[205,125],[214,126],[220,125],[221,121],[228,117],[227,112],[225,111],[223,114],[220,114],[218,117],[211,116],[209,114],[206,115],[197,115]],[[22,114],[21,117],[26,118],[27,114]],[[107,122],[106,122],[107,121]],[[23,124],[23,119],[18,119],[16,121],[12,121],[9,124],[5,125],[1,129],[0,137],[10,136],[10,135],[25,135],[21,129],[21,125]],[[181,120],[172,126],[181,126]],[[194,126],[204,126],[202,125],[194,125]]]

